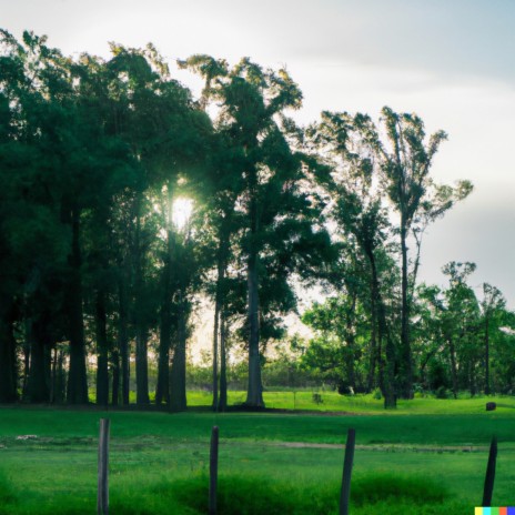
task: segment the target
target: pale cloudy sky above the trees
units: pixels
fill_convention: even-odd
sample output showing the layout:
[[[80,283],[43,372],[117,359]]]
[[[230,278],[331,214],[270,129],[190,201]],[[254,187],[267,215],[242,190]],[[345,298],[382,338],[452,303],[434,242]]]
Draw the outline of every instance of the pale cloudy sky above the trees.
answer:
[[[322,110],[416,112],[427,133],[448,133],[435,180],[475,186],[430,226],[420,279],[445,286],[445,263],[472,261],[477,294],[488,282],[515,309],[515,1],[0,0],[0,13],[1,28],[47,34],[65,54],[152,42],[170,60],[286,67],[304,94],[302,123]]]

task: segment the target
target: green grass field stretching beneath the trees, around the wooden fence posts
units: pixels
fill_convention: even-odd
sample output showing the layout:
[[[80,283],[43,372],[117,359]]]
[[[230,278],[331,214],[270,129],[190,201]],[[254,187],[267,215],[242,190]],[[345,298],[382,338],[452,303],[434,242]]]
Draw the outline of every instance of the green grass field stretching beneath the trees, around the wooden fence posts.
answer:
[[[515,504],[515,398],[416,398],[385,413],[370,396],[295,393],[307,413],[0,408],[0,514],[95,513],[97,443],[111,420],[113,514],[206,513],[209,438],[220,427],[220,514],[336,514],[349,427],[356,430],[352,514],[473,513],[487,446],[499,440],[494,505]],[[238,403],[241,393],[232,393]],[[488,398],[492,400],[492,398]],[[293,393],[265,393],[293,410]],[[190,393],[192,405],[209,396]],[[316,412],[320,413],[316,413]],[[334,412],[344,412],[335,414]],[[327,413],[324,413],[327,412]],[[34,435],[26,440],[20,436]]]

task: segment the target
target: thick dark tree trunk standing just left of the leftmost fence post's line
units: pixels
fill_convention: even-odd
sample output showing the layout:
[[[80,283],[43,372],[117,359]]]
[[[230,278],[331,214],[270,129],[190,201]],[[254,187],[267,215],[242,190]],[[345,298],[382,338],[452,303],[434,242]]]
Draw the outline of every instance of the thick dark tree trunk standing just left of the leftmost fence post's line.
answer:
[[[71,209],[72,245],[69,255],[69,281],[64,300],[70,340],[70,370],[67,401],[70,404],[88,404],[88,378],[85,372],[85,342],[82,315],[82,276],[80,252],[80,210]]]

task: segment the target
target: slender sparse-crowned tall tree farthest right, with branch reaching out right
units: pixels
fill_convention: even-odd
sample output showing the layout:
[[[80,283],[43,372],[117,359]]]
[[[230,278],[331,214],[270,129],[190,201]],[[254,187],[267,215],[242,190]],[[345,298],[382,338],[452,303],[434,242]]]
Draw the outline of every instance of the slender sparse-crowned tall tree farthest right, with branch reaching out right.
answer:
[[[413,356],[410,343],[410,273],[407,241],[412,230],[415,238],[423,229],[442,216],[455,202],[472,191],[467,181],[452,186],[436,185],[431,175],[434,155],[446,133],[437,131],[426,142],[424,123],[416,114],[395,113],[383,108],[381,129],[368,117],[355,117],[354,128],[360,140],[366,143],[368,162],[381,170],[378,185],[398,214],[396,230],[401,246],[401,334],[398,349],[398,393],[411,397],[413,393]],[[345,143],[345,141],[344,141]],[[370,164],[367,164],[370,166]],[[421,239],[418,238],[418,252]],[[416,260],[418,263],[418,259]],[[416,264],[417,269],[418,264]],[[414,281],[412,286],[414,286]],[[412,287],[413,289],[413,287]]]

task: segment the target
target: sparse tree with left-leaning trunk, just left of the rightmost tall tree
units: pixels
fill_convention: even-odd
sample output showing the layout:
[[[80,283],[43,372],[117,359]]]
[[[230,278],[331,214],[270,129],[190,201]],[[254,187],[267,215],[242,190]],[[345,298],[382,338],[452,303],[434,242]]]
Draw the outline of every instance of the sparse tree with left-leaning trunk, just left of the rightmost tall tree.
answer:
[[[357,246],[367,262],[371,344],[370,380],[372,385],[376,363],[385,407],[395,407],[395,342],[392,321],[387,320],[384,285],[378,261],[386,255],[392,228],[384,208],[384,191],[380,185],[380,170],[375,145],[370,134],[375,130],[370,117],[357,113],[323,112],[319,124],[309,130],[311,144],[325,156],[332,170],[324,188],[331,199],[330,218],[341,238]],[[351,251],[353,254],[354,249]],[[384,272],[384,269],[383,269]],[[343,270],[343,274],[349,271]]]

